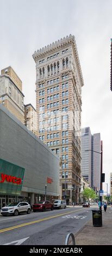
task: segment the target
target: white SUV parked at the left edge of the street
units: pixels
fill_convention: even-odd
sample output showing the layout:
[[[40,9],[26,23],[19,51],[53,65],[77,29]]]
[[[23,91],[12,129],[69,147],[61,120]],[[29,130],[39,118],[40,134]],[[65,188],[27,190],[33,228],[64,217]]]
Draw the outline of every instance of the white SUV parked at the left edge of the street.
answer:
[[[28,204],[27,202],[20,202],[20,203],[11,203],[8,206],[4,206],[1,209],[1,214],[4,215],[15,215],[17,216],[18,214],[20,214],[21,212],[27,212],[27,214],[30,214],[30,204]]]

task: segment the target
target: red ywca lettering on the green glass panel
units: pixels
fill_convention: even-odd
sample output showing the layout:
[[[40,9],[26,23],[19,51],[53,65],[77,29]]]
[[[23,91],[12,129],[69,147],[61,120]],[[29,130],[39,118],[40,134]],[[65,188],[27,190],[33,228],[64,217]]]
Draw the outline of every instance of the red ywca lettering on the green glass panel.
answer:
[[[13,182],[13,183],[18,184],[18,185],[20,185],[22,183],[21,178],[17,178],[15,176],[11,176],[11,175],[8,175],[8,174],[1,173],[0,183],[3,183],[5,180],[8,181],[8,182]]]

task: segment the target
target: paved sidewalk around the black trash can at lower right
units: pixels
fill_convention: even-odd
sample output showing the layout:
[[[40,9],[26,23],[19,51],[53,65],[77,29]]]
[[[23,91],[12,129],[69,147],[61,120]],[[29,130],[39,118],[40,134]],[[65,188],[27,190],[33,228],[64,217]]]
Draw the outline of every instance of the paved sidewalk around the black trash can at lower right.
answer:
[[[102,211],[102,227],[94,227],[91,220],[75,235],[76,245],[112,245],[112,210]]]

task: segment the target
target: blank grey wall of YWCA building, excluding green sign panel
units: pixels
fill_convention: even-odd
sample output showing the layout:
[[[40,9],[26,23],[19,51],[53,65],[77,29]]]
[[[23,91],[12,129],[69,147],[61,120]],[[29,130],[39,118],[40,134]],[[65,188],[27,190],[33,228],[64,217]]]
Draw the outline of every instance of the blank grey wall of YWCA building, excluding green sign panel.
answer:
[[[59,196],[59,159],[0,104],[0,158],[25,168],[22,191]]]

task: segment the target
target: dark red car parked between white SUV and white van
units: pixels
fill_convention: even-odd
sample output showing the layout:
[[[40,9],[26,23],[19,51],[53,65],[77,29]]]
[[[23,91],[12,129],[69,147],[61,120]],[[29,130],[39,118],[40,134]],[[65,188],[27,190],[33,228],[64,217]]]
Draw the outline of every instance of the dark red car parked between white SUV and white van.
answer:
[[[49,201],[40,201],[37,204],[33,204],[33,211],[45,211],[45,210],[53,210],[54,206]]]

